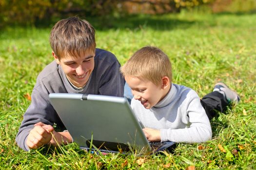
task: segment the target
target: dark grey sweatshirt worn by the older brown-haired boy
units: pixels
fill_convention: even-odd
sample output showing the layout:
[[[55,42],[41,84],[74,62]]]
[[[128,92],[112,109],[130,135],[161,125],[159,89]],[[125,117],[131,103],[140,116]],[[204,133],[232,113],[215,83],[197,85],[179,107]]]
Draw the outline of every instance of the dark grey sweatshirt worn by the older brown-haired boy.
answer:
[[[25,144],[30,130],[37,122],[55,125],[56,131],[65,130],[56,111],[49,101],[49,93],[86,93],[123,97],[124,79],[119,72],[120,64],[114,54],[96,49],[95,68],[82,90],[75,89],[66,78],[60,65],[55,61],[46,66],[37,78],[32,91],[31,104],[26,110],[16,142],[25,151]]]

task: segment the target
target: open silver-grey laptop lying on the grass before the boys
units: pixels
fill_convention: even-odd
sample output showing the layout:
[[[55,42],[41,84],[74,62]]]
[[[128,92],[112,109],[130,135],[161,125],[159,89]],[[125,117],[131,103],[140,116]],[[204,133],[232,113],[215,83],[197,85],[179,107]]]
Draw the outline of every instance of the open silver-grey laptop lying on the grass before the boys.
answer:
[[[156,153],[175,142],[149,142],[122,97],[50,93],[50,102],[81,149],[102,153]]]

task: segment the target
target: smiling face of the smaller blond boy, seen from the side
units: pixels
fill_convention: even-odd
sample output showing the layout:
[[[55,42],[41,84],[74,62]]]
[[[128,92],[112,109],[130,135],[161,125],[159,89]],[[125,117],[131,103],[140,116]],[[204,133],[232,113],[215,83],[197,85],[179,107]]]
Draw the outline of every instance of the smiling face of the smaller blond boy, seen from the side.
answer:
[[[163,77],[159,85],[135,76],[126,76],[125,81],[131,87],[134,99],[140,101],[146,109],[160,102],[171,88],[168,77]]]

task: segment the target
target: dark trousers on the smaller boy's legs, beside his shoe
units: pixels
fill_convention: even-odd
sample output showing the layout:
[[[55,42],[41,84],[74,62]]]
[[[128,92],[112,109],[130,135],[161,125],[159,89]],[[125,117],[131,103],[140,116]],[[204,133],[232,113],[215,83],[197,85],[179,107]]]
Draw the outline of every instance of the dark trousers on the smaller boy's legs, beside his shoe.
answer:
[[[217,111],[225,113],[229,105],[224,95],[217,91],[205,95],[201,99],[201,104],[210,120],[217,116]]]

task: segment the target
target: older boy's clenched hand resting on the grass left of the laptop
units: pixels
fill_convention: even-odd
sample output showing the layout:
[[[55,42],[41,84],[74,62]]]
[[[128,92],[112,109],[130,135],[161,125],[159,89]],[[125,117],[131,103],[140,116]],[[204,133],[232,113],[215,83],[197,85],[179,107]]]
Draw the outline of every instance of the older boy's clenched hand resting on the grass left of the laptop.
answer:
[[[29,132],[26,144],[30,149],[37,149],[47,144],[51,139],[51,132],[54,128],[42,122],[34,124],[34,128]]]

